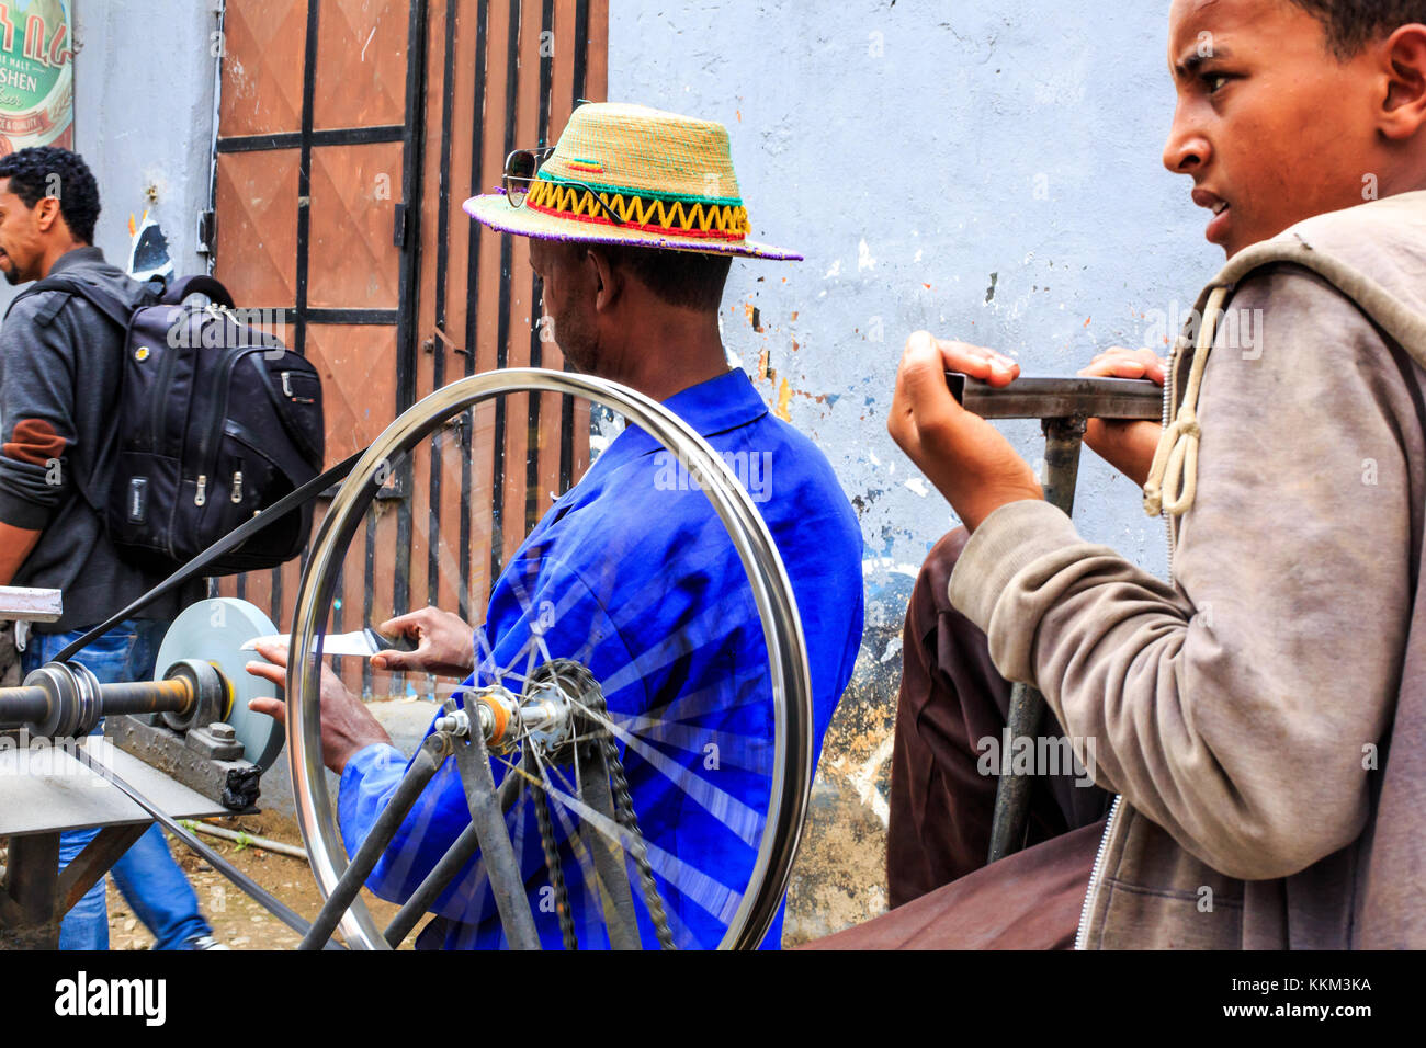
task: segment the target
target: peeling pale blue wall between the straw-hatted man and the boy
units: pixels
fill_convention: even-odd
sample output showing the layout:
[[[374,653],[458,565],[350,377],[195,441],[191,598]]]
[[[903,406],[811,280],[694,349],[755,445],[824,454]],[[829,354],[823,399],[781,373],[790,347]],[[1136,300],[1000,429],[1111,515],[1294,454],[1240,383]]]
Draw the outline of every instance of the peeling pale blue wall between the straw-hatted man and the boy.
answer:
[[[790,394],[861,515],[868,630],[793,885],[800,938],[884,905],[900,626],[953,523],[886,433],[906,337],[924,327],[1024,374],[1074,374],[1112,345],[1162,348],[1221,255],[1188,180],[1159,164],[1166,1],[1112,17],[1098,0],[612,9],[609,98],[727,124],[754,235],[807,257],[733,267],[726,342],[754,375],[766,359],[769,402]],[[1037,423],[1007,429],[1041,458]],[[1085,538],[1164,569],[1162,526],[1089,453],[1078,499]]]

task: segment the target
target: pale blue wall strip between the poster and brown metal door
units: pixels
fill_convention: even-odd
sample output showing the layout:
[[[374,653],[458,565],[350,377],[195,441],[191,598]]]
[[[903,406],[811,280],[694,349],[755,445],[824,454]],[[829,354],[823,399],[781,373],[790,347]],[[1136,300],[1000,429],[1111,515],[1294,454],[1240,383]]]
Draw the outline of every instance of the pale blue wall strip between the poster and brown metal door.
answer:
[[[127,267],[128,218],[163,227],[175,271],[207,272],[195,251],[208,207],[218,29],[214,0],[76,0],[76,150],[98,181],[94,242]],[[0,285],[0,311],[14,291]]]

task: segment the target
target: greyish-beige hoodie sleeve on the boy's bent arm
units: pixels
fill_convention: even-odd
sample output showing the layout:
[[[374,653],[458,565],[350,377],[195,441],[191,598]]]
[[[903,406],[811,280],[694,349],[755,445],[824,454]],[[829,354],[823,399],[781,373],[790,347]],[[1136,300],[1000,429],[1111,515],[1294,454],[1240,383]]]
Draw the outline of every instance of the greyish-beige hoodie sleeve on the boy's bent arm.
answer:
[[[1261,338],[1221,335],[1209,356],[1176,585],[1017,502],[971,538],[950,596],[997,667],[1045,693],[1097,781],[1258,880],[1365,826],[1363,747],[1389,723],[1410,626],[1426,436],[1383,339],[1326,281],[1261,271],[1232,305],[1262,311]]]

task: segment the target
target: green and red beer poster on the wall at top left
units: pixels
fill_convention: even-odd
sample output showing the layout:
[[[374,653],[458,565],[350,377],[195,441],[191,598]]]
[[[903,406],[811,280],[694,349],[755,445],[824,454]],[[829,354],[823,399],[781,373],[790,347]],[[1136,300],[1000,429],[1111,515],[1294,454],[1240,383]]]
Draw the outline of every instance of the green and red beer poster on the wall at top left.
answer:
[[[74,147],[73,0],[0,0],[0,155]]]

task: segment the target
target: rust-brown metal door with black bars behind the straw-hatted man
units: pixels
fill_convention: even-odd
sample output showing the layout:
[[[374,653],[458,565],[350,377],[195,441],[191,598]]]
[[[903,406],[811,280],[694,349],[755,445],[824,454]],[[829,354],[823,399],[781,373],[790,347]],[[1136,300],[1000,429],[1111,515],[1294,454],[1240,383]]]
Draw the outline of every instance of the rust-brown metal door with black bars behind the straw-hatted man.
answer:
[[[215,275],[240,305],[288,309],[288,344],[322,372],[328,465],[456,378],[563,365],[539,339],[525,241],[482,232],[461,202],[576,98],[603,97],[606,3],[228,0]],[[585,405],[520,395],[471,415],[394,473],[329,629],[425,603],[479,622],[505,558],[588,465]],[[298,573],[221,592],[287,629]],[[368,694],[406,690],[342,669]]]

